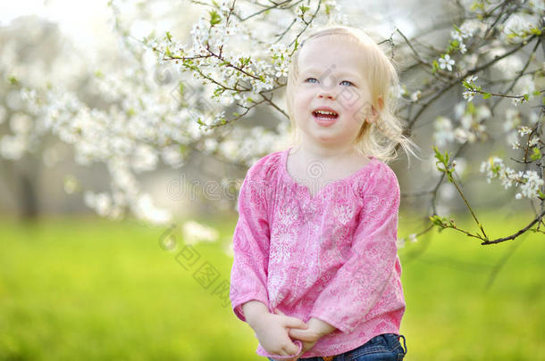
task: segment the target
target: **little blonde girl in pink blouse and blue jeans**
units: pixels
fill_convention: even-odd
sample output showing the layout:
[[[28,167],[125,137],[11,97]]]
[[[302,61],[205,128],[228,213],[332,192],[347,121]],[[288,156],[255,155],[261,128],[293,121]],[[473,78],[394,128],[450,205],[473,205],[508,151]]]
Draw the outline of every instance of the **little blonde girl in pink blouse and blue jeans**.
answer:
[[[401,360],[399,185],[411,152],[393,115],[398,76],[363,31],[315,31],[294,53],[295,146],[247,171],[233,235],[231,304],[270,360]],[[306,358],[309,357],[309,358]]]

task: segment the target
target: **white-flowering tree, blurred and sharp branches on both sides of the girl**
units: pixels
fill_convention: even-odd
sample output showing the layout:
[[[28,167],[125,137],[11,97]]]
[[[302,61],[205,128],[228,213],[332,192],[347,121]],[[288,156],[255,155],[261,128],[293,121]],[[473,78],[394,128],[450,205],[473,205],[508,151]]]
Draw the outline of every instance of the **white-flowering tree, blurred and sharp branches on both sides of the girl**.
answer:
[[[96,78],[110,101],[107,110],[89,108],[62,90],[23,91],[30,103],[41,104],[36,117],[74,145],[81,164],[108,165],[112,192],[85,196],[102,215],[121,217],[130,210],[156,222],[168,221],[170,216],[141,193],[135,176],[155,169],[160,158],[177,167],[188,150],[198,150],[247,166],[280,149],[289,129],[282,103],[290,55],[309,29],[347,23],[340,4],[331,0],[192,3],[202,15],[190,41],[171,30],[135,38],[122,19],[123,7],[130,5],[110,3],[126,64],[122,74]],[[400,64],[398,116],[406,121],[406,135],[413,136],[417,127],[433,127],[440,176],[432,189],[405,194],[431,196],[429,226],[409,239],[434,226],[482,244],[543,233],[543,11],[539,1],[458,0],[453,21],[432,40],[426,32],[407,37],[400,28],[379,39]],[[436,103],[451,103],[452,116],[432,115]],[[263,109],[272,111],[277,126],[247,126],[244,120]],[[528,201],[534,212],[523,229],[497,239],[485,232],[459,174],[460,154],[492,141],[502,144],[502,153],[483,159],[481,173],[490,183],[499,180],[515,188],[515,201]],[[513,154],[509,166],[507,152]],[[456,187],[476,231],[440,214],[437,194],[446,182]]]

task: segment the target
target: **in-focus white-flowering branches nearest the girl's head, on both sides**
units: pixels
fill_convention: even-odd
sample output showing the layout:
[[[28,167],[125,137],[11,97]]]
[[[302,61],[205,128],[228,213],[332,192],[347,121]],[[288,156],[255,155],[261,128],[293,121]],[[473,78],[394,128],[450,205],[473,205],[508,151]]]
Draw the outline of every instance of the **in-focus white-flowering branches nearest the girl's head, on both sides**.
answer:
[[[227,1],[211,4],[207,14],[194,26],[191,49],[177,43],[168,33],[162,43],[157,44],[155,40],[151,44],[163,60],[176,62],[181,70],[191,71],[206,84],[214,86],[213,99],[227,96],[245,110],[241,114],[234,112],[231,117],[220,113],[210,123],[198,119],[207,128],[222,127],[237,121],[260,104],[270,105],[287,117],[274,103],[273,96],[276,90],[286,85],[289,55],[297,49],[299,37],[314,24],[331,20],[332,17],[342,22],[340,9],[334,2],[286,1],[254,4],[253,7],[241,3]],[[540,45],[545,46],[542,34],[543,4],[532,1],[474,1],[465,4],[457,2],[457,6],[457,23],[452,24],[449,41],[439,49],[423,44],[423,36],[408,39],[402,29],[394,29],[390,37],[384,39],[391,45],[392,56],[396,53],[398,58],[407,55],[413,58],[414,62],[404,69],[410,74],[406,78],[423,77],[424,86],[410,90],[404,87],[401,92],[403,106],[400,116],[407,120],[407,135],[411,135],[418,123],[423,122],[426,109],[438,102],[443,94],[456,91],[461,86],[465,88],[463,97],[466,102],[457,104],[454,127],[451,119],[436,119],[437,144],[455,144],[457,149],[452,156],[434,147],[437,168],[443,176],[431,191],[432,226],[452,228],[481,240],[482,244],[512,240],[528,230],[543,233],[543,90],[536,89],[536,84],[542,84],[543,79],[543,63],[537,61]],[[286,19],[289,19],[287,24]],[[272,31],[251,34],[251,29],[256,29],[258,22],[281,26],[272,26]],[[237,44],[230,42],[236,34],[251,39],[256,50],[251,54],[230,51],[236,48],[229,46]],[[530,53],[524,53],[528,48],[531,49]],[[271,52],[268,57],[266,50]],[[520,65],[513,67],[513,62],[517,65],[520,62]],[[503,70],[501,75],[507,77],[496,77],[494,72],[497,70]],[[477,81],[478,74],[483,74],[481,84]],[[479,99],[474,99],[475,96]],[[505,107],[502,101],[506,99],[513,101],[513,107],[507,110],[499,134],[492,134],[493,129],[487,128],[487,120],[491,122],[497,118],[494,112],[499,105]],[[533,111],[536,102],[537,111]],[[523,104],[533,106],[523,109]],[[508,168],[498,156],[491,156],[489,160],[482,161],[481,171],[488,182],[498,178],[506,188],[517,187],[519,192],[516,199],[529,199],[537,210],[524,229],[490,239],[459,185],[455,170],[457,162],[453,158],[465,147],[499,136],[505,138],[513,149],[520,151],[516,155],[518,159],[514,161],[524,164],[524,170]],[[477,232],[460,229],[453,219],[437,214],[436,193],[445,177],[456,186],[471,211],[478,225]],[[415,236],[411,234],[413,240]]]

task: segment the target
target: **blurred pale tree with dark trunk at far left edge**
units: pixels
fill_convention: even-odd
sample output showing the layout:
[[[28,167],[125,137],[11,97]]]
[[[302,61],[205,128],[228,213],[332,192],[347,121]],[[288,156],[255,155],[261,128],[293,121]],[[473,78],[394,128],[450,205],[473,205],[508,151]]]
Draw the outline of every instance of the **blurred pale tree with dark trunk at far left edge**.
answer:
[[[0,29],[0,182],[15,192],[19,214],[38,214],[38,181],[44,166],[61,157],[58,140],[32,117],[33,110],[21,97],[24,86],[46,87],[56,81],[84,82],[73,64],[71,47],[65,45],[57,24],[38,17],[22,17]],[[5,171],[7,170],[7,171]]]

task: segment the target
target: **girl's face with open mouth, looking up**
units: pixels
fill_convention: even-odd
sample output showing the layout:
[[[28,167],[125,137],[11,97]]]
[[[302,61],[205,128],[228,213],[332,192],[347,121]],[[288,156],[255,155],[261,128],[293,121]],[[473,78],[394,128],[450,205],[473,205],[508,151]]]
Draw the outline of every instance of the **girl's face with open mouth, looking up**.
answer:
[[[375,119],[363,52],[343,35],[317,37],[301,49],[293,115],[303,142],[346,147],[365,119]]]

